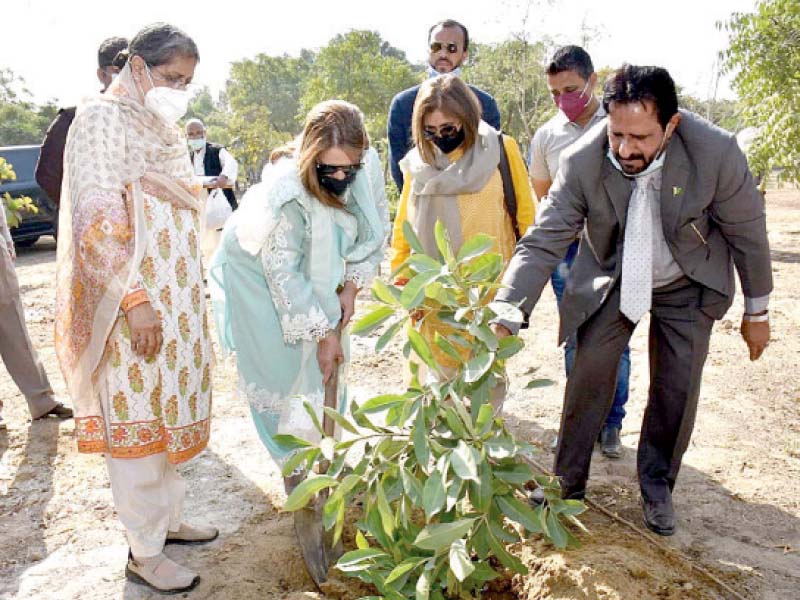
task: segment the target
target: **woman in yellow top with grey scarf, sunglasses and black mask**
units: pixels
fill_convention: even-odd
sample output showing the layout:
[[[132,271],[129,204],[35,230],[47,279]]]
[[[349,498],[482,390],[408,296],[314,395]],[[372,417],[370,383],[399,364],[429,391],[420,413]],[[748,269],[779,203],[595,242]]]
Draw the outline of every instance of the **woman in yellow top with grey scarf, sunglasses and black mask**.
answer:
[[[403,234],[406,220],[431,256],[439,254],[434,228],[441,221],[455,253],[469,238],[484,233],[494,238],[492,251],[508,264],[517,239],[534,216],[528,173],[517,143],[481,120],[477,96],[453,74],[420,86],[412,131],[416,145],[400,162],[404,185],[392,233],[392,271],[411,253]],[[401,275],[398,283],[405,280]],[[422,319],[420,333],[439,364],[457,368],[458,362],[433,343],[437,332],[450,331],[448,326],[436,318],[435,310],[417,312],[413,318]],[[493,390],[496,407],[504,395],[504,386]]]

